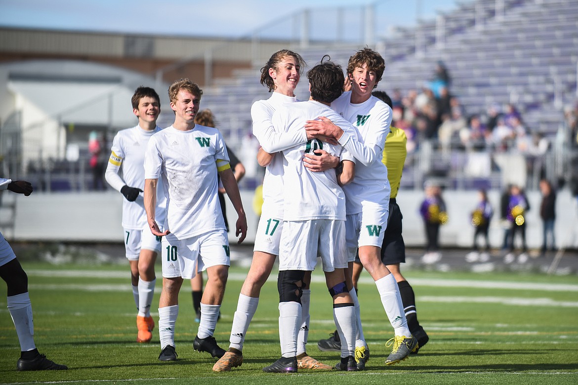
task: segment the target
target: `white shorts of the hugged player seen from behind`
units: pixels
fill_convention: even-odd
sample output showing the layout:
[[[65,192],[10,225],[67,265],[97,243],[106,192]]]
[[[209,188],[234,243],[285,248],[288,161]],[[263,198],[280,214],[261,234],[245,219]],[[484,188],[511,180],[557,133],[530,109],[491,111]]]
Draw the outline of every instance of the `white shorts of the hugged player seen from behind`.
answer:
[[[317,256],[323,271],[347,267],[345,221],[286,220],[279,247],[279,270],[313,271]]]

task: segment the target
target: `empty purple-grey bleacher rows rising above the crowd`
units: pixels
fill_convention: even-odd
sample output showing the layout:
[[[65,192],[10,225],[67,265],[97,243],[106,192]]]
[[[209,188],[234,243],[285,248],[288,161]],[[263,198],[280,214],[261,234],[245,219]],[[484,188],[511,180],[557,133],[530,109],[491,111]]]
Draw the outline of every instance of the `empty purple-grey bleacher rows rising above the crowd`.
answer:
[[[403,94],[420,89],[442,60],[451,74],[451,93],[467,114],[486,111],[490,104],[516,103],[528,128],[556,132],[563,121],[561,107],[576,97],[578,5],[573,0],[495,0],[461,3],[443,14],[443,38],[436,21],[415,28],[397,28],[393,37],[377,42],[386,59],[379,88],[399,88]],[[310,47],[299,50],[309,65],[325,54],[346,65],[360,46]],[[203,106],[210,107],[233,148],[250,132],[250,107],[268,98],[259,83],[259,69],[240,70],[234,79],[206,87]],[[298,88],[306,98],[306,81]]]

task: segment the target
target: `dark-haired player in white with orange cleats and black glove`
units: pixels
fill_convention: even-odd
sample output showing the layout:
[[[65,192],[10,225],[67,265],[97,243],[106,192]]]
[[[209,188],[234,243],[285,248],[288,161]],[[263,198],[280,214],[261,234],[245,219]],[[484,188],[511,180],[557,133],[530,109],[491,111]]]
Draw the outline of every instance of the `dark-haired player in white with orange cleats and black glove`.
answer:
[[[161,128],[157,126],[161,102],[156,91],[150,87],[139,87],[132,95],[132,112],[138,125],[120,130],[112,142],[112,152],[106,167],[106,181],[123,200],[123,229],[126,256],[131,267],[132,294],[135,298],[137,342],[150,342],[154,328],[150,306],[153,302],[156,276],[154,263],[161,251],[161,238],[149,229],[144,212],[144,151],[149,139]],[[121,176],[122,175],[122,176]],[[157,199],[157,221],[164,223],[165,205],[162,185]]]

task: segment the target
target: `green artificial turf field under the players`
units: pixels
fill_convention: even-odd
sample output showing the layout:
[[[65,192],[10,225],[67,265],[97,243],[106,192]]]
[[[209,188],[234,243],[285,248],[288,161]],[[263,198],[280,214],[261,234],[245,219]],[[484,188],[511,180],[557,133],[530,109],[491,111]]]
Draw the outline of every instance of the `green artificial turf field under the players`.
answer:
[[[0,284],[0,383],[116,384],[576,384],[578,383],[578,278],[531,274],[407,272],[420,323],[430,341],[417,356],[386,367],[393,337],[375,285],[364,274],[359,286],[362,322],[370,347],[365,372],[299,371],[287,375],[262,368],[280,356],[275,281],[261,291],[247,333],[244,362],[215,373],[216,359],[195,352],[190,286],[183,284],[176,323],[179,360],[160,362],[157,328],[153,341],[136,339],[135,304],[127,266],[28,261],[35,342],[41,353],[68,371],[17,372],[20,347]],[[160,272],[160,266],[157,272]],[[247,269],[231,268],[215,337],[228,347],[232,317]],[[274,278],[274,277],[273,277]],[[158,304],[161,280],[154,304]],[[454,285],[450,287],[449,283]],[[480,283],[486,283],[480,285]],[[516,284],[513,287],[508,285]],[[533,285],[540,285],[534,290]],[[565,285],[565,286],[564,286]],[[486,287],[484,287],[486,286]],[[554,290],[552,290],[554,289]],[[158,323],[156,305],[153,317]],[[323,275],[314,273],[307,352],[328,364],[339,353],[320,352],[317,341],[335,330]]]

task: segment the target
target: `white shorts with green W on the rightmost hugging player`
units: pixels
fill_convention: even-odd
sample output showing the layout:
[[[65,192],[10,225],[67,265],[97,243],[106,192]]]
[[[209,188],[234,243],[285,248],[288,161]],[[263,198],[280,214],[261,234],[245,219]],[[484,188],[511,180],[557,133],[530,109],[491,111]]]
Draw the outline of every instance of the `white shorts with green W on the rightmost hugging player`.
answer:
[[[387,215],[387,207],[364,205],[361,212],[346,216],[347,261],[355,261],[358,247],[377,246],[381,248],[383,234],[387,227]]]

